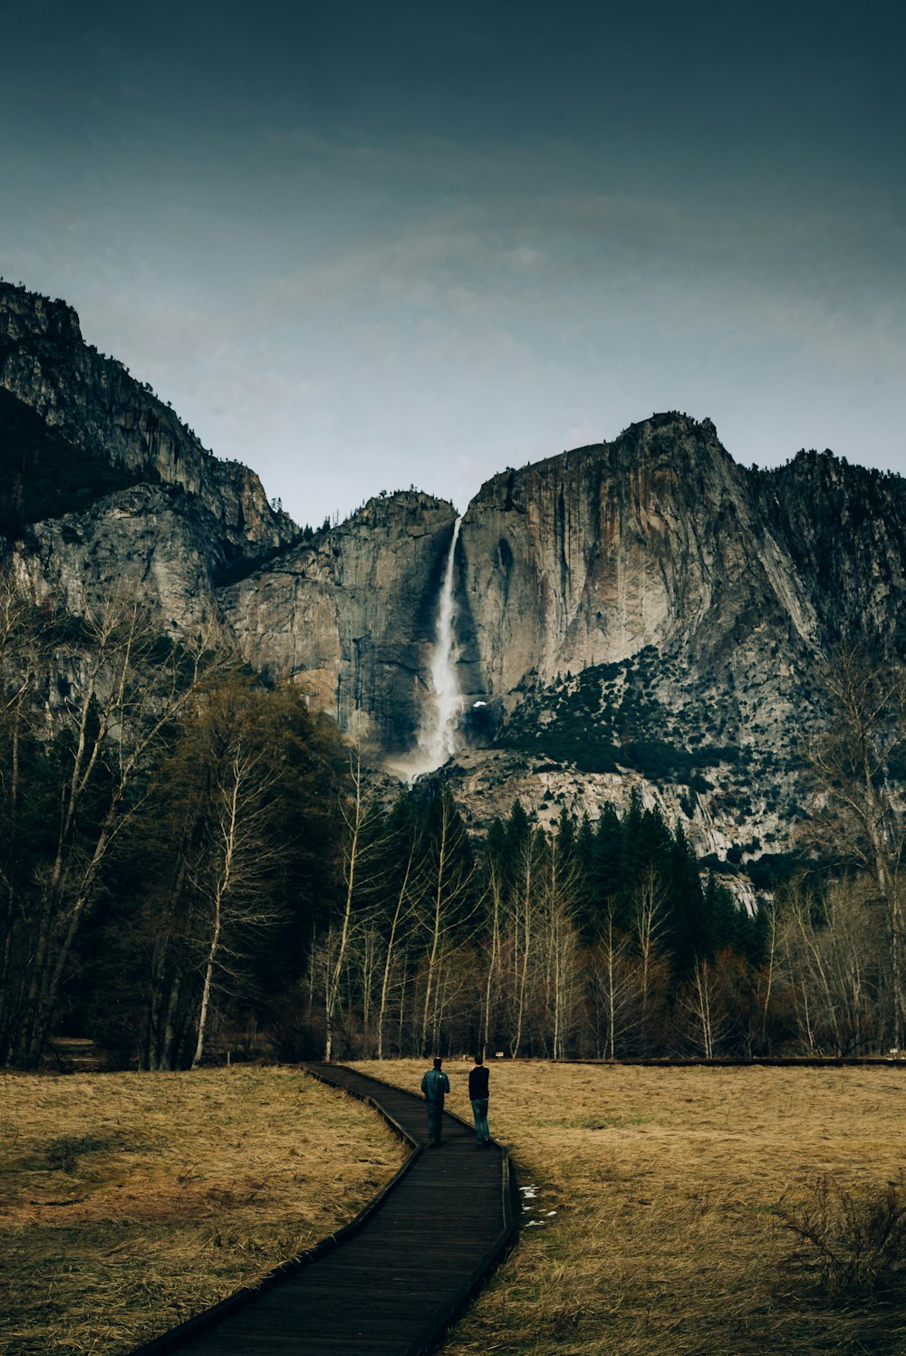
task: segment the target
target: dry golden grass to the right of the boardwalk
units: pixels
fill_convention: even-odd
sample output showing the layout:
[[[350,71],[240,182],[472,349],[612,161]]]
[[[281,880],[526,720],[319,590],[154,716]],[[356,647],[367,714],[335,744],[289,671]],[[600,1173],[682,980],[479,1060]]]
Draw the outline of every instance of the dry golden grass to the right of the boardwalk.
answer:
[[[415,1090],[426,1066],[357,1067]],[[468,1116],[469,1066],[445,1067]],[[524,1222],[543,1223],[445,1356],[905,1352],[906,1294],[822,1288],[777,1212],[814,1210],[829,1178],[849,1201],[883,1196],[905,1113],[899,1067],[495,1063],[491,1132],[537,1185]]]

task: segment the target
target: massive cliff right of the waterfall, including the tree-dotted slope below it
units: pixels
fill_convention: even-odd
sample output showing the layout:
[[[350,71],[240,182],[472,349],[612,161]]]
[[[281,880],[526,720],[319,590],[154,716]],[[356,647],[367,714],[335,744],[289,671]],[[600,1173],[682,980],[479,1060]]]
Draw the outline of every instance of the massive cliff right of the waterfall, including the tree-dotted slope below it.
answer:
[[[502,728],[492,755],[458,759],[473,810],[518,786],[552,822],[635,788],[717,860],[788,846],[829,631],[766,492],[684,415],[481,488],[461,532],[460,667]]]

